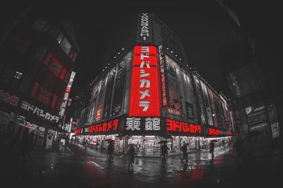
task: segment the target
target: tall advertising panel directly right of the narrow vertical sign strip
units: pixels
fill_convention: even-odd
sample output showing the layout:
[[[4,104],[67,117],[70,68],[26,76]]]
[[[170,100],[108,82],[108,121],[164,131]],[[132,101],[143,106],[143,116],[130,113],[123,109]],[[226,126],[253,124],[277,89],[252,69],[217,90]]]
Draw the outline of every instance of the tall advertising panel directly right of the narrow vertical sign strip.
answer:
[[[182,95],[180,82],[178,80],[178,72],[180,71],[180,68],[178,64],[173,61],[173,59],[171,59],[167,55],[165,57],[169,90],[169,104],[167,112],[168,114],[181,117],[183,114]]]

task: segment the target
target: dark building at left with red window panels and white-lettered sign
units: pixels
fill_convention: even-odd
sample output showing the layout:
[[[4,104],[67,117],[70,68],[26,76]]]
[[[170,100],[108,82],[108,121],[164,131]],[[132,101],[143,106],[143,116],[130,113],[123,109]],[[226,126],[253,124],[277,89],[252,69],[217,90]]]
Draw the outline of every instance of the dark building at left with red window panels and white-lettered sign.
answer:
[[[67,20],[33,8],[6,32],[0,46],[0,112],[3,117],[13,114],[16,121],[2,130],[9,138],[19,120],[40,131],[39,146],[62,131],[59,110],[79,53],[74,37]]]

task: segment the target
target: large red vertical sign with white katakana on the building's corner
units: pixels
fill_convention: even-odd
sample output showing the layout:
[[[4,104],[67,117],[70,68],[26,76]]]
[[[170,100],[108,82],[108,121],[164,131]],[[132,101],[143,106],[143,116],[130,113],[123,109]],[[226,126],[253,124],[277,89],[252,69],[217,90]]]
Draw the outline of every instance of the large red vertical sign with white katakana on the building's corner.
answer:
[[[159,116],[160,91],[156,47],[134,47],[129,116]]]

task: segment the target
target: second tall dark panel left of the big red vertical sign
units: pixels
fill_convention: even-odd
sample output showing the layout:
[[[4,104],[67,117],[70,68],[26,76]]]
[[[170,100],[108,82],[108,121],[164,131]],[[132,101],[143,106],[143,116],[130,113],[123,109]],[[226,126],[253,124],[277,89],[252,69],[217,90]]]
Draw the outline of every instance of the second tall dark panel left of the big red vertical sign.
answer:
[[[108,81],[107,81],[106,93],[105,93],[105,102],[103,106],[103,119],[109,117],[110,115],[110,107],[112,102],[111,99],[112,99],[115,74],[116,74],[116,67],[112,68],[108,75]]]

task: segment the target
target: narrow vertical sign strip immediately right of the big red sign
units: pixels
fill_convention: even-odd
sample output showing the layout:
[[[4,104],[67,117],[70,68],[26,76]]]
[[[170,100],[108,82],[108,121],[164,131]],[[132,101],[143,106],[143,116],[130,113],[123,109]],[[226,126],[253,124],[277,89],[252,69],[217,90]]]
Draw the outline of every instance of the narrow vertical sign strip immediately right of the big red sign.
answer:
[[[159,71],[161,78],[161,94],[162,94],[162,106],[167,105],[167,93],[166,93],[166,61],[163,52],[163,46],[158,47],[158,57],[159,57]]]

